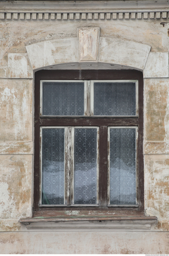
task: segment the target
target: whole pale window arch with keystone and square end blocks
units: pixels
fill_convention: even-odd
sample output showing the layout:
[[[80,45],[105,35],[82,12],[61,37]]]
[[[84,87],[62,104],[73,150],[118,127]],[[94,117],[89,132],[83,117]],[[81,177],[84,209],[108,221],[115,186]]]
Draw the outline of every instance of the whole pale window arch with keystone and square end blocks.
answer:
[[[33,78],[33,70],[39,69],[135,69],[144,78],[169,77],[169,53],[150,52],[150,48],[131,40],[100,37],[99,27],[78,28],[77,37],[27,42],[27,53],[9,53],[8,77]]]

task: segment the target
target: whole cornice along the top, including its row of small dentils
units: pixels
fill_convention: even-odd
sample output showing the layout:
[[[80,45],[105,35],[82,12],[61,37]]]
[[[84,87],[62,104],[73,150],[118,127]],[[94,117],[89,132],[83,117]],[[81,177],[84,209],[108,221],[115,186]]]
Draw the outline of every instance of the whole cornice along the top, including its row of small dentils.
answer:
[[[4,20],[117,20],[169,18],[169,1],[0,2]]]

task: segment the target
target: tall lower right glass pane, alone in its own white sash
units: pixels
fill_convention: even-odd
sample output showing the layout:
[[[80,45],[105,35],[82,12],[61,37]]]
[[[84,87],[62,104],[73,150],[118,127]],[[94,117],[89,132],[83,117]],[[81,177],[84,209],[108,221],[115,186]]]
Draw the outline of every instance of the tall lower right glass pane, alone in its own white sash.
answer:
[[[136,204],[136,129],[110,129],[110,204]]]

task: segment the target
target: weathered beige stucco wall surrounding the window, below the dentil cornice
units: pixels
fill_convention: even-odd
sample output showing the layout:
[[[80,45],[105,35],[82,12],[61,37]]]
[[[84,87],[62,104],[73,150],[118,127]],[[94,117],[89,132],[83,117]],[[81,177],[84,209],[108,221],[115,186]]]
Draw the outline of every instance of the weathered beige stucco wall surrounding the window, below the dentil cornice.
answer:
[[[77,63],[79,27],[100,27],[99,62],[143,70],[145,214],[158,218],[150,232],[72,236],[65,231],[28,232],[18,223],[32,216],[33,69]],[[0,233],[1,253],[169,252],[168,29],[169,19],[162,15],[133,20],[0,20],[0,231],[5,232]]]

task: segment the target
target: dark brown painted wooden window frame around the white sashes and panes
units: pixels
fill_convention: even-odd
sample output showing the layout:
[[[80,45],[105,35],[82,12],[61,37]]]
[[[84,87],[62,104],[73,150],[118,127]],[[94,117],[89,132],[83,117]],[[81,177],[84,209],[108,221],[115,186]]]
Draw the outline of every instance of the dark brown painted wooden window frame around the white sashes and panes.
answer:
[[[40,80],[138,80],[138,117],[42,117],[40,113]],[[99,206],[97,207],[39,207],[40,198],[40,127],[97,126],[99,127]],[[107,149],[108,126],[138,127],[136,149],[136,198],[138,207],[107,206]],[[100,171],[101,170],[101,171]],[[85,216],[103,212],[132,216],[144,215],[143,167],[143,73],[138,70],[39,70],[34,74],[34,192],[33,216],[59,216],[64,211],[78,210]]]

